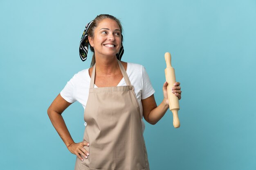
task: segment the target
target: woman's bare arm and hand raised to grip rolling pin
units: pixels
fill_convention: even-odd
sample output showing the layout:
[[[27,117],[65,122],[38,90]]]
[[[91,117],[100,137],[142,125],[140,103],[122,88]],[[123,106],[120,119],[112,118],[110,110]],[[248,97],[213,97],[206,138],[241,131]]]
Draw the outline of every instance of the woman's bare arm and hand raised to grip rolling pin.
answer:
[[[167,85],[165,82],[163,86],[164,99],[159,106],[155,102],[154,95],[141,100],[143,107],[143,116],[144,119],[150,124],[156,124],[166,113],[169,108],[168,95],[167,95]],[[180,83],[176,82],[173,87],[173,93],[179,99],[181,99]]]

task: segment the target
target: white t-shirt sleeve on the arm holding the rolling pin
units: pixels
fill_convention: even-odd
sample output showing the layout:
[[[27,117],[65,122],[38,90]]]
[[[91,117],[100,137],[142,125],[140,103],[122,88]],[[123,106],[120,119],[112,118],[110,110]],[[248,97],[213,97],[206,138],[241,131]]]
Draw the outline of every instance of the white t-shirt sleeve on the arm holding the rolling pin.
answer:
[[[144,66],[142,66],[142,92],[141,92],[141,99],[148,98],[152,94],[155,93],[154,88],[151,85],[148,73]]]

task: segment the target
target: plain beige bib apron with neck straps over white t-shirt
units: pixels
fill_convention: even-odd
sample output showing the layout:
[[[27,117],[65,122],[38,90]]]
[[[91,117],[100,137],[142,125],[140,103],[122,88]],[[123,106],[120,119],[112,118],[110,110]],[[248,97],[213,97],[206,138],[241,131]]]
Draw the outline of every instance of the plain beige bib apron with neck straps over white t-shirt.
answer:
[[[139,103],[124,66],[118,61],[126,86],[94,88],[92,71],[84,120],[83,141],[90,153],[75,170],[149,170]]]

